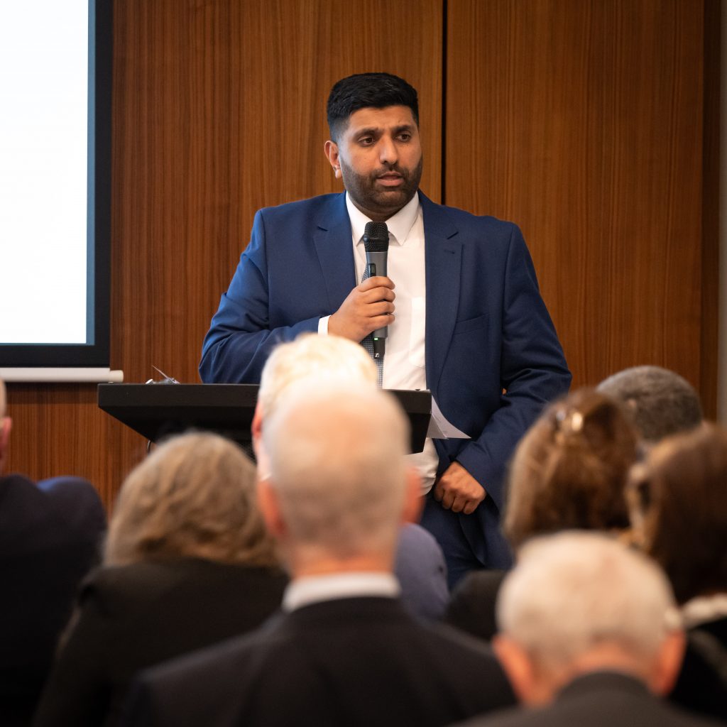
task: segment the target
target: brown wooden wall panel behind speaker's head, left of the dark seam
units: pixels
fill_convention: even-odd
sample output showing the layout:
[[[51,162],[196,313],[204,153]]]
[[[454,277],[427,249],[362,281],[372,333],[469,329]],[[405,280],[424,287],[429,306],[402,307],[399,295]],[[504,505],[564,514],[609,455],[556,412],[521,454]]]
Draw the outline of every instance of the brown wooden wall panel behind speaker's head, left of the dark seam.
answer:
[[[342,76],[417,87],[440,197],[442,22],[441,0],[115,1],[111,366],[127,382],[153,365],[198,381],[254,211],[340,189],[323,146]],[[93,386],[12,385],[9,408],[11,470],[84,475],[108,503],[142,457]]]

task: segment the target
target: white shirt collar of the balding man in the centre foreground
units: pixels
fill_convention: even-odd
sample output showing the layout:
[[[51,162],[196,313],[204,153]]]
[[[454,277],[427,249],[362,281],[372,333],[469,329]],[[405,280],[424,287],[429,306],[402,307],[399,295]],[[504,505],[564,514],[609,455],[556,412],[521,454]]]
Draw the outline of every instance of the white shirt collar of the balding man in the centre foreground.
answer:
[[[289,583],[283,595],[283,610],[294,611],[320,601],[337,598],[378,596],[396,598],[401,588],[390,573],[336,573],[326,576],[296,578]]]

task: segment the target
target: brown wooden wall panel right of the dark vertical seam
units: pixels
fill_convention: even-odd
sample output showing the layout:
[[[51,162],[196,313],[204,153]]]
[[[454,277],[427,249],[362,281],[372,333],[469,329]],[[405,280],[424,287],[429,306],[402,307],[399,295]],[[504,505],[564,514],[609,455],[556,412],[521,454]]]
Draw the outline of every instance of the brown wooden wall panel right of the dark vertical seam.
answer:
[[[446,203],[521,225],[574,385],[699,387],[702,3],[448,7]]]

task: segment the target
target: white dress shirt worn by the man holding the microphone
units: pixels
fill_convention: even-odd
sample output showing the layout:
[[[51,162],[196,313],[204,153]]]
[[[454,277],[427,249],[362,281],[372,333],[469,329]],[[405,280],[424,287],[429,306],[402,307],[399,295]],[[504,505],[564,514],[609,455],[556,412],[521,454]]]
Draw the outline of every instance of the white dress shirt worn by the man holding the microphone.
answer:
[[[371,222],[346,193],[346,209],[351,222],[353,260],[356,280],[361,281],[366,268],[364,228]],[[425,367],[426,332],[426,276],[424,254],[424,217],[419,195],[386,220],[389,230],[388,277],[394,282],[395,320],[389,325],[384,356],[385,389],[426,389]],[[330,316],[321,318],[318,333],[328,333]],[[424,451],[410,454],[411,464],[419,469],[422,494],[434,484],[439,458],[431,439],[427,438]]]

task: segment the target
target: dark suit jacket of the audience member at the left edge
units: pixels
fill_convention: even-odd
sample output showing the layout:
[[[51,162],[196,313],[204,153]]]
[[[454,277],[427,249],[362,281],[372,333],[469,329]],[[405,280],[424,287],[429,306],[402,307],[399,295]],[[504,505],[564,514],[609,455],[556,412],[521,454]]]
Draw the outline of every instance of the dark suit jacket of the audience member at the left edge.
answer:
[[[106,528],[91,483],[0,477],[0,724],[26,725]]]

